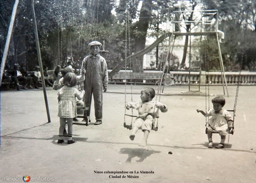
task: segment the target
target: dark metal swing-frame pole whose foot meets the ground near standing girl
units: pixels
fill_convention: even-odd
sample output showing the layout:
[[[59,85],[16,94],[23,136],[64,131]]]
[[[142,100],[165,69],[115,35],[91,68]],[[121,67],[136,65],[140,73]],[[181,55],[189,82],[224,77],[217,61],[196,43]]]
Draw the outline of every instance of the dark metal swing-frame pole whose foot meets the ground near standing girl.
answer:
[[[48,123],[50,123],[51,118],[50,118],[50,111],[49,111],[48,100],[47,100],[47,95],[46,95],[46,88],[45,88],[45,82],[44,82],[44,72],[43,72],[43,64],[42,64],[39,38],[38,38],[38,32],[37,32],[37,26],[36,26],[36,14],[35,14],[35,9],[34,9],[34,0],[31,0],[30,4],[31,4],[31,11],[32,11],[34,34],[35,34],[35,38],[36,38],[37,57],[38,57],[38,61],[39,61],[39,67],[40,67],[40,73],[41,73],[42,85],[43,85],[43,91],[44,91],[45,107],[46,107],[46,112],[47,112]]]

